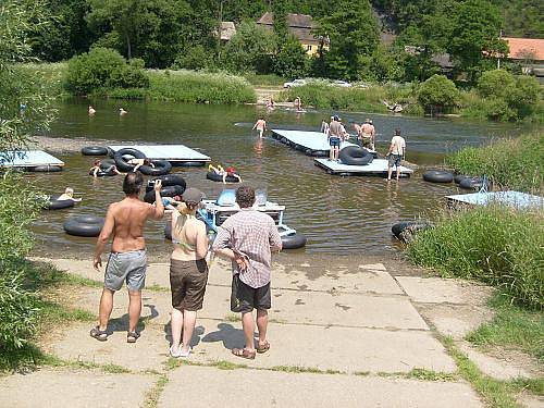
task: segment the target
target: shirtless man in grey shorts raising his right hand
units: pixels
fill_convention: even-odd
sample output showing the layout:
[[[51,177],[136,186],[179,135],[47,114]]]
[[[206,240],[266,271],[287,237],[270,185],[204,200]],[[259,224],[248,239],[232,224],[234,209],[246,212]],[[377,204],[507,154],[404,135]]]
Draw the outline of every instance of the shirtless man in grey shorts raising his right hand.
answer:
[[[136,326],[141,312],[141,289],[146,282],[146,243],[144,224],[151,218],[160,220],[164,215],[161,199],[161,181],[154,184],[156,206],[143,202],[139,193],[144,177],[141,173],[128,173],[123,182],[126,197],[113,202],[108,208],[102,232],[98,237],[92,265],[96,270],[102,267],[101,255],[104,246],[113,235],[111,254],[106,267],[104,285],[100,298],[99,324],[90,331],[90,336],[100,342],[108,339],[108,321],[113,309],[113,294],[121,289],[123,282],[128,288],[128,333],[127,343],[135,343],[139,333]]]

